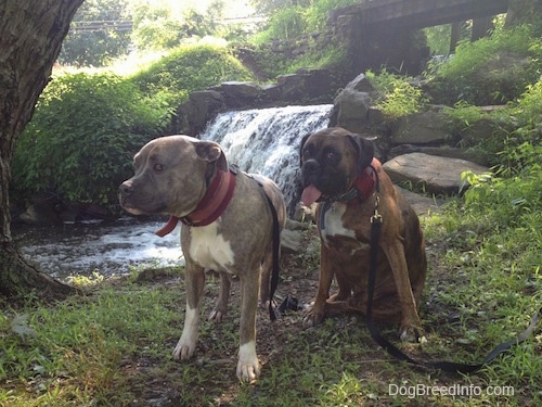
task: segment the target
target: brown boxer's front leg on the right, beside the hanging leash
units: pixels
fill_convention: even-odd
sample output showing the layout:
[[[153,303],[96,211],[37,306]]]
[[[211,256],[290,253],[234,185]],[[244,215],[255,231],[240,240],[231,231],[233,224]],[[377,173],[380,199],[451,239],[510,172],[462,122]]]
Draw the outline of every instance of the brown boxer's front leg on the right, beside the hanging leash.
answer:
[[[388,258],[393,272],[397,294],[401,306],[401,341],[424,342],[424,331],[417,315],[417,305],[409,277],[409,266],[401,241],[380,242],[380,249]]]

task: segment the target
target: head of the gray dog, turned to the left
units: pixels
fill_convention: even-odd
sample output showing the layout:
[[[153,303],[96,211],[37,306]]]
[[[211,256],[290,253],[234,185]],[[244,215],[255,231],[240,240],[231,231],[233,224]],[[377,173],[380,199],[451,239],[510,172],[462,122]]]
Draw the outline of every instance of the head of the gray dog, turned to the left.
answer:
[[[134,176],[119,187],[120,205],[133,215],[194,211],[216,171],[228,168],[219,144],[167,136],[145,144],[133,158]]]

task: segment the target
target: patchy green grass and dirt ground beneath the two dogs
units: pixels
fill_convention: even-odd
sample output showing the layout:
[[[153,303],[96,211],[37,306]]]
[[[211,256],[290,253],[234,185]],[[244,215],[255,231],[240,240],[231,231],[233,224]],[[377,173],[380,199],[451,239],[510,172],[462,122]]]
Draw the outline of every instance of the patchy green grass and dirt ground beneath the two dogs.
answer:
[[[491,208],[488,212],[492,212]],[[461,215],[461,216],[459,216]],[[428,343],[400,344],[414,357],[479,363],[528,326],[540,306],[540,215],[527,239],[516,228],[494,233],[488,214],[459,201],[423,219],[429,276],[421,316]],[[524,227],[524,226],[521,226]],[[538,234],[533,234],[538,233]],[[535,239],[534,239],[535,240]],[[314,252],[317,253],[317,252]],[[304,303],[315,293],[318,260],[283,260],[279,293]],[[361,317],[328,318],[305,330],[301,314],[272,323],[258,316],[261,378],[235,378],[238,306],[215,326],[202,320],[195,358],[176,363],[184,287],[182,269],[149,282],[95,282],[90,294],[56,304],[2,303],[1,406],[521,406],[542,402],[542,336],[537,334],[478,373],[414,369],[389,357]],[[99,280],[99,279],[98,279]],[[210,311],[218,280],[207,283]],[[238,283],[234,284],[238,289]],[[397,339],[397,327],[383,326]],[[463,386],[463,395],[443,395]],[[487,394],[487,392],[500,394]],[[513,391],[513,395],[509,392]],[[467,393],[465,393],[467,392]],[[470,392],[470,395],[468,394]],[[474,393],[473,393],[474,392]],[[430,394],[429,394],[430,393]]]

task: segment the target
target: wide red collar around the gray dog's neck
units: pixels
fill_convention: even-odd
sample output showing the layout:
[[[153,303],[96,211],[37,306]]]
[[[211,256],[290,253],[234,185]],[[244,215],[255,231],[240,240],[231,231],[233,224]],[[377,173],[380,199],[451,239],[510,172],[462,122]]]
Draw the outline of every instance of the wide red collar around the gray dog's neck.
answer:
[[[186,226],[207,226],[214,222],[225,211],[234,189],[235,174],[231,170],[219,169],[196,208],[186,216],[171,215],[167,224],[156,231],[156,234],[164,238],[173,231],[179,220]]]

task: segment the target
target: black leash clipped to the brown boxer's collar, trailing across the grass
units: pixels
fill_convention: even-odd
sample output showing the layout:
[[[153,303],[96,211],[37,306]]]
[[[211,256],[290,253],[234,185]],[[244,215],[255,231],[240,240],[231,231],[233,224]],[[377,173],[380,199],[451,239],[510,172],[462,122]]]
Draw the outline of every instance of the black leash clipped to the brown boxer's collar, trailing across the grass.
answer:
[[[378,240],[380,238],[380,227],[382,227],[382,216],[378,214],[378,192],[379,192],[379,186],[378,186],[378,178],[375,183],[375,209],[374,209],[374,215],[371,217],[371,257],[370,257],[370,265],[369,265],[369,280],[367,280],[367,309],[366,309],[366,320],[367,320],[367,328],[371,333],[371,336],[373,340],[380,345],[388,354],[393,356],[397,359],[404,360],[411,365],[417,366],[417,367],[423,367],[423,368],[429,368],[429,369],[439,369],[443,371],[451,371],[451,372],[457,372],[457,373],[470,373],[473,371],[479,370],[483,365],[490,363],[499,354],[507,351],[509,347],[512,347],[515,344],[519,344],[524,342],[538,325],[539,321],[539,314],[542,313],[542,308],[539,309],[537,314],[531,319],[531,322],[529,323],[529,327],[516,339],[512,339],[509,341],[503,342],[499,345],[496,345],[489,354],[486,356],[486,358],[480,363],[476,365],[468,365],[468,364],[460,364],[460,363],[454,363],[454,361],[446,361],[446,360],[439,360],[439,361],[425,361],[425,360],[417,360],[413,359],[410,356],[405,355],[401,349],[399,349],[397,346],[395,346],[392,343],[390,343],[388,340],[386,340],[376,325],[373,321],[373,296],[374,296],[374,288],[375,288],[375,280],[376,280],[376,268],[377,268],[377,260],[378,260]]]

